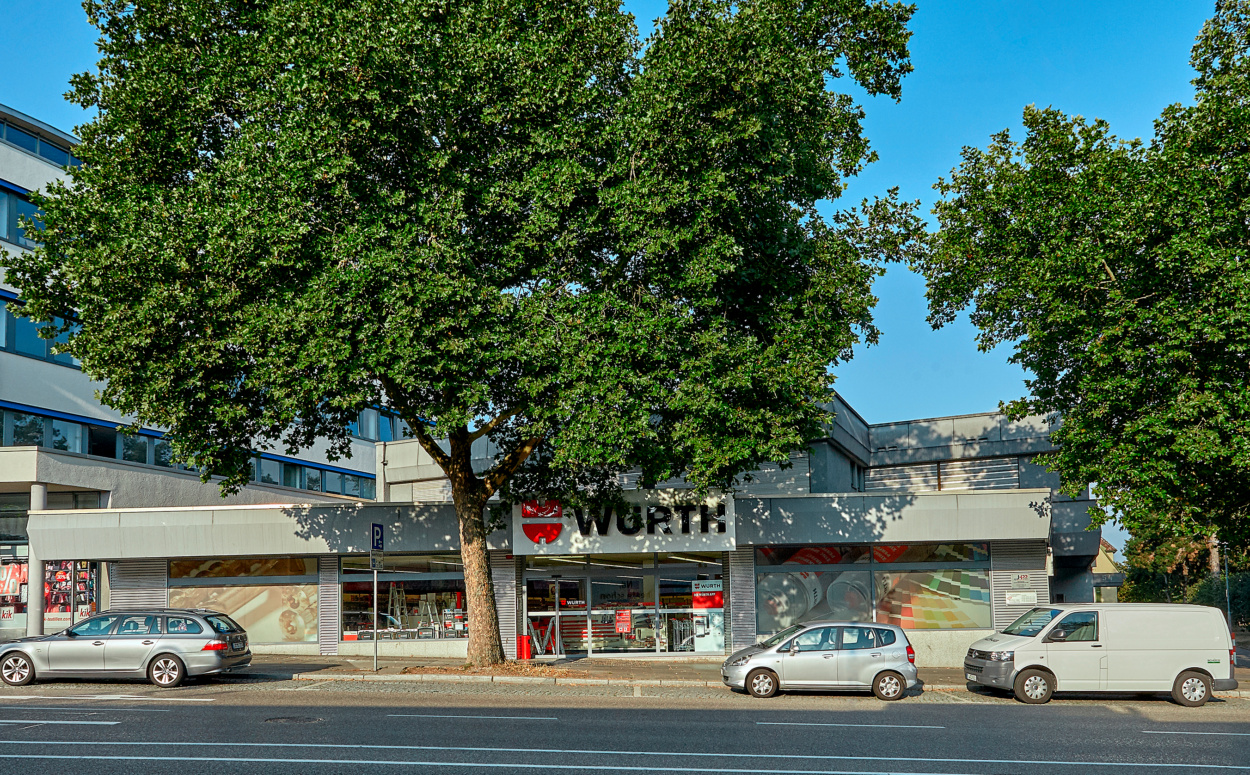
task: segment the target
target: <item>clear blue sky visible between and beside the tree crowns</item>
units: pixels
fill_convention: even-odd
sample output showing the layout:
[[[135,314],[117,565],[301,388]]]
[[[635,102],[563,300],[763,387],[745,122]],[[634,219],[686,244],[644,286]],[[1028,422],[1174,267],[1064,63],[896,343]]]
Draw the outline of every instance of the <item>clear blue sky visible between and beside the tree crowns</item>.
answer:
[[[899,186],[928,212],[932,182],[965,145],[1018,130],[1025,105],[1101,118],[1125,138],[1151,134],[1162,108],[1190,99],[1189,49],[1211,0],[960,0],[918,2],[912,72],[902,101],[860,94],[881,160],[846,199]],[[664,0],[626,0],[644,32]],[[4,0],[0,102],[61,129],[84,118],[65,102],[69,76],[95,61],[95,35],[78,2]],[[852,94],[856,90],[850,89]],[[964,322],[932,331],[924,282],[894,268],[878,284],[881,344],[838,370],[838,389],[871,422],[992,410],[1024,394],[1010,352],[979,352]],[[1114,539],[1112,539],[1114,540]]]

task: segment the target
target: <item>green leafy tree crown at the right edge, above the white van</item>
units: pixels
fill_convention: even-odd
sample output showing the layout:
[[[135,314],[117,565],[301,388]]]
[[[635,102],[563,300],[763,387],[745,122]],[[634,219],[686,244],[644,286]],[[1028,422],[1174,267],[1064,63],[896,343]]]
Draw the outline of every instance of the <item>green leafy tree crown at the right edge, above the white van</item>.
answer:
[[[1061,418],[1046,458],[1096,521],[1250,534],[1250,2],[1220,0],[1190,105],[1149,142],[1029,108],[965,149],[919,268],[935,326],[971,308],[1030,372],[1016,414]]]

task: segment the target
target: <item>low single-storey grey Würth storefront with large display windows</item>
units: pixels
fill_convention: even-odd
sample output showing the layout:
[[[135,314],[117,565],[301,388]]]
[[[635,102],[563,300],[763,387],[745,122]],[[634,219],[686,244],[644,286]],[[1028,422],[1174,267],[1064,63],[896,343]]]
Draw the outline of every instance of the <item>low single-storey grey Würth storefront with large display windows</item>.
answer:
[[[628,492],[628,509],[519,506],[491,535],[510,656],[718,656],[790,624],[911,630],[924,664],[1049,596],[1046,490],[748,498]],[[52,556],[108,569],[114,609],[210,608],[258,650],[462,656],[465,616],[449,504],[41,511]],[[379,630],[370,525],[384,526]],[[836,539],[838,542],[830,542]]]

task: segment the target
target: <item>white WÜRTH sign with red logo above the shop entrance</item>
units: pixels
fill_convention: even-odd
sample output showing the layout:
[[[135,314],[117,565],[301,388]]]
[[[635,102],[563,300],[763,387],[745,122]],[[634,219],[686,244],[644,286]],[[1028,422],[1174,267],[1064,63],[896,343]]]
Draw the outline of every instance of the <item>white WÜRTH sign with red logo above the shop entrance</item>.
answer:
[[[729,551],[735,548],[732,499],[688,490],[634,490],[624,509],[565,508],[526,501],[512,510],[512,551],[604,554]]]

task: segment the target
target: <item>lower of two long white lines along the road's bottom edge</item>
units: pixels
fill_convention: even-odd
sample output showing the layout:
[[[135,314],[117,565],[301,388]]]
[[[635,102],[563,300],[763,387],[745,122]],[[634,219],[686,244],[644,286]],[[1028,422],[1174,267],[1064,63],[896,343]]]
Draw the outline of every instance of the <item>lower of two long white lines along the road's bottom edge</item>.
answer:
[[[94,745],[94,744],[92,744]],[[898,770],[736,770],[726,768],[672,768],[672,766],[622,766],[616,764],[522,764],[514,761],[404,761],[401,759],[265,759],[260,756],[65,756],[52,754],[0,754],[0,759],[90,759],[105,761],[235,761],[240,764],[350,764],[390,765],[410,768],[458,768],[458,769],[511,769],[511,770],[580,770],[590,772],[722,772],[725,775],[974,775],[971,772],[916,772]]]

